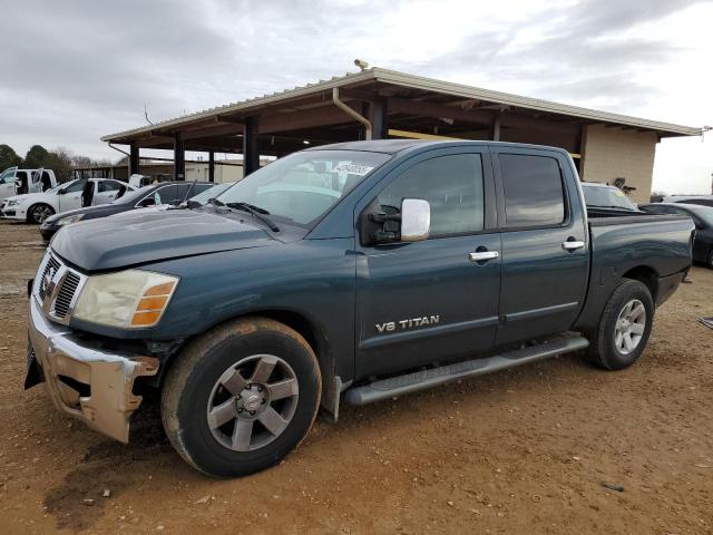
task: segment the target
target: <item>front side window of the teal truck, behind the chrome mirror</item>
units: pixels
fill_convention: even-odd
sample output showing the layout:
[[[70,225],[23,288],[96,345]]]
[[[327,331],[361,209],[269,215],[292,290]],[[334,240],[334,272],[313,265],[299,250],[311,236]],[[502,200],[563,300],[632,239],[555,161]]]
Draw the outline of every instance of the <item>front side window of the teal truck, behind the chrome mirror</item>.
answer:
[[[431,205],[431,237],[484,228],[482,162],[479,154],[440,156],[416,164],[378,197],[381,211],[398,214],[404,198]]]

